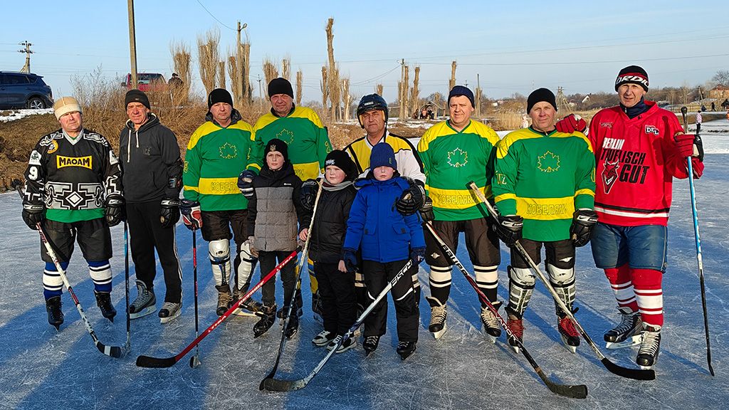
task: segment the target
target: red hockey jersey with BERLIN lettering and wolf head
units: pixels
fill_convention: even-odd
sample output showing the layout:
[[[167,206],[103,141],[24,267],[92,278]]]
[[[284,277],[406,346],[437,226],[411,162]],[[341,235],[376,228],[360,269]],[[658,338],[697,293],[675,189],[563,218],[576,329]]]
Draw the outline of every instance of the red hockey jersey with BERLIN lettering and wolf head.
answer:
[[[673,177],[688,177],[686,159],[674,144],[674,135],[683,133],[678,118],[645,102],[650,109],[633,119],[618,106],[602,109],[590,121],[601,223],[666,225]]]

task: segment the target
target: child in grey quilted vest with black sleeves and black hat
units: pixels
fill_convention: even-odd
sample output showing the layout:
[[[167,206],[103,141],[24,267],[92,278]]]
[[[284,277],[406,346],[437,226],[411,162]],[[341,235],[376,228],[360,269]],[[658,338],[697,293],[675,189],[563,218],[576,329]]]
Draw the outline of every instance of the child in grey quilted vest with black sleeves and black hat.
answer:
[[[289,162],[288,147],[280,139],[271,139],[265,146],[260,174],[253,179],[254,193],[248,200],[248,241],[252,252],[258,253],[261,279],[297,247],[297,223],[303,225],[304,209],[300,201],[301,179]],[[284,304],[291,301],[296,285],[294,264],[281,268],[284,282]],[[262,287],[262,317],[253,327],[254,337],[261,336],[276,322],[276,282],[269,280]],[[286,326],[286,338],[291,339],[299,328],[301,294]],[[287,306],[284,306],[287,309]]]

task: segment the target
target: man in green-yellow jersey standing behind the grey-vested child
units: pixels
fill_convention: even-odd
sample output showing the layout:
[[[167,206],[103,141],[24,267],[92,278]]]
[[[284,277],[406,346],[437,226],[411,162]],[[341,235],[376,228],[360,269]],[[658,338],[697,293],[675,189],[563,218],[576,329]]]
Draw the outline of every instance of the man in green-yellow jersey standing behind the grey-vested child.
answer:
[[[321,125],[319,115],[310,108],[295,106],[294,90],[289,80],[281,77],[271,80],[268,83],[268,98],[271,102],[270,112],[256,121],[254,135],[251,136],[248,166],[238,179],[241,193],[248,198],[253,195],[251,182],[260,171],[265,157],[263,148],[271,139],[276,138],[286,142],[289,147],[289,161],[294,166],[296,176],[302,181],[316,179],[322,174],[324,160],[332,151],[327,128]],[[311,309],[315,314],[321,315],[316,276],[311,269],[309,279],[311,279]]]

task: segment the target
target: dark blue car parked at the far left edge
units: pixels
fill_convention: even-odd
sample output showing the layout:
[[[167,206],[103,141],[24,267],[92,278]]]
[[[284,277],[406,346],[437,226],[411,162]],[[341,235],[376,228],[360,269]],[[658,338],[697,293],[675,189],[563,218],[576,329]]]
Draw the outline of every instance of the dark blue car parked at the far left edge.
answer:
[[[42,109],[52,106],[53,94],[42,76],[0,71],[0,108]]]

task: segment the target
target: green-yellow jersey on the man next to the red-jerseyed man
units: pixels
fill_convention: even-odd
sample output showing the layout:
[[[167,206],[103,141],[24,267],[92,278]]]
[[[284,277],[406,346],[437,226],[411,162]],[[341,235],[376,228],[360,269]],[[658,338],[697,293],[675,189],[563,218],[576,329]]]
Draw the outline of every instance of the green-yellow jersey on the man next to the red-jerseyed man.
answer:
[[[499,213],[524,218],[524,238],[569,239],[574,210],[595,204],[590,141],[579,132],[513,131],[496,144],[492,186]]]

